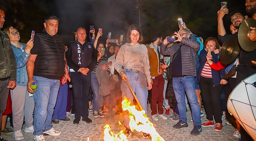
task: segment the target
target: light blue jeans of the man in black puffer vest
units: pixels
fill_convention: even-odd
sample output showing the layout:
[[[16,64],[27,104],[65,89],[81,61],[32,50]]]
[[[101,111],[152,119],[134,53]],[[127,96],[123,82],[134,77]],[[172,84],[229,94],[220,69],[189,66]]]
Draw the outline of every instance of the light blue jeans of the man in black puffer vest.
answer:
[[[59,80],[33,76],[37,91],[33,94],[35,101],[34,136],[43,135],[43,131],[52,128],[52,114],[56,104]]]

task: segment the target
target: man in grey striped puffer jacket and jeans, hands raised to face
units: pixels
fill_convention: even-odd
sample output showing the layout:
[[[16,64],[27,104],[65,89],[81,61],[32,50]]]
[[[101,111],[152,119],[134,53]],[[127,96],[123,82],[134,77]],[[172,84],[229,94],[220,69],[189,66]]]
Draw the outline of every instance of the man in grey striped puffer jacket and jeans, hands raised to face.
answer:
[[[194,128],[190,134],[196,136],[202,132],[200,107],[197,101],[194,81],[194,77],[196,76],[195,55],[200,49],[200,43],[189,38],[190,31],[187,28],[180,29],[180,31],[174,34],[178,38],[174,42],[180,43],[174,43],[171,47],[167,47],[168,42],[167,38],[165,38],[160,47],[162,55],[170,55],[173,66],[173,89],[180,114],[180,121],[173,125],[173,128],[188,127],[185,102],[186,91],[194,120]]]

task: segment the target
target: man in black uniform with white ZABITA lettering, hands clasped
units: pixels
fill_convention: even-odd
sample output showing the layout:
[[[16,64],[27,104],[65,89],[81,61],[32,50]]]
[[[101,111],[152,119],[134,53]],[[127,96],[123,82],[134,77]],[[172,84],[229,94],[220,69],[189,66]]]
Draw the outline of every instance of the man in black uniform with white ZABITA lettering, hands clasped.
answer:
[[[75,109],[74,124],[82,121],[92,123],[88,113],[88,95],[91,86],[91,71],[97,61],[95,47],[87,42],[86,31],[83,27],[76,30],[77,40],[70,42],[66,52],[67,63],[72,78],[72,99]]]

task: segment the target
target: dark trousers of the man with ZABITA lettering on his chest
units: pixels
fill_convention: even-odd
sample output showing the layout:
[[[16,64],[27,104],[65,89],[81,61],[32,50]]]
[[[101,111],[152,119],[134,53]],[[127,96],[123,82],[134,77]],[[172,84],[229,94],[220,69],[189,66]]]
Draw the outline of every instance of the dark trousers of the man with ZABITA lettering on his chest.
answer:
[[[72,100],[75,109],[75,118],[80,119],[81,116],[84,118],[89,116],[88,112],[88,101],[89,101],[89,90],[91,87],[91,73],[83,75],[78,72],[70,72],[72,80]]]

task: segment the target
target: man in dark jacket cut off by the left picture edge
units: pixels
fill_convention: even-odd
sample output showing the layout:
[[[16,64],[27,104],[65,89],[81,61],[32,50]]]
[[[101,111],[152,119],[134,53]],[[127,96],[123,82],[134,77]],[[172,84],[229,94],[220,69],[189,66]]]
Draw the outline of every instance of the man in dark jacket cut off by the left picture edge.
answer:
[[[5,13],[0,8],[0,29],[4,26],[4,22]],[[17,64],[9,42],[9,36],[0,30],[0,126],[2,124],[2,114],[6,109],[9,90],[16,86],[16,69]],[[0,135],[0,140],[5,139]]]

